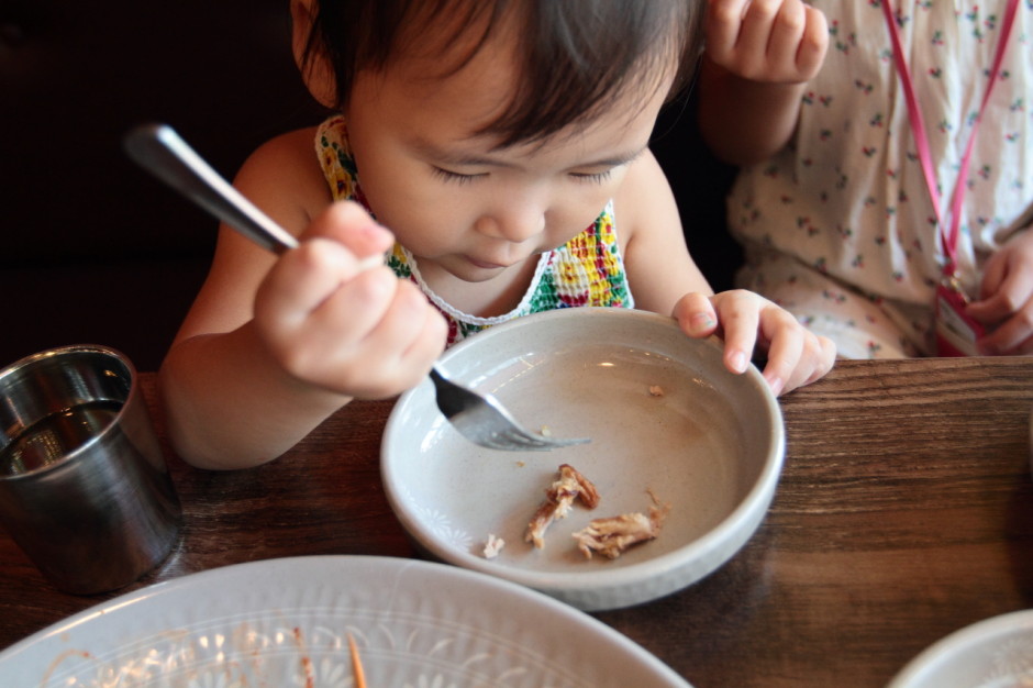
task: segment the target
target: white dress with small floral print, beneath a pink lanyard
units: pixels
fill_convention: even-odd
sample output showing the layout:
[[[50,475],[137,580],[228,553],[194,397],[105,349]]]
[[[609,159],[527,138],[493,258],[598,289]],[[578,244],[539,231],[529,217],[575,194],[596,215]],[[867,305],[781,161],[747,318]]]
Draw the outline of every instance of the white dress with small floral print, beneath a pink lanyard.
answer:
[[[836,341],[841,355],[930,355],[944,265],[880,1],[891,1],[936,179],[954,190],[1006,0],[812,0],[830,27],[790,146],[745,168],[729,222],[746,246],[741,286]],[[978,296],[987,257],[1033,202],[1033,0],[1020,0],[973,148],[958,277]],[[944,201],[946,206],[947,201]]]

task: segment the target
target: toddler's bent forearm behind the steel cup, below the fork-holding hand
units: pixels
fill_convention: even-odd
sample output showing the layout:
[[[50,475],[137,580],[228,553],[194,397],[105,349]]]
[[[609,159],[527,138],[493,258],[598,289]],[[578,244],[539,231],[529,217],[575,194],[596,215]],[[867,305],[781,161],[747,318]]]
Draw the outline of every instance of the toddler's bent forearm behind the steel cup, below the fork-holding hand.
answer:
[[[251,323],[177,342],[159,387],[173,448],[212,469],[273,460],[349,400],[289,376]]]

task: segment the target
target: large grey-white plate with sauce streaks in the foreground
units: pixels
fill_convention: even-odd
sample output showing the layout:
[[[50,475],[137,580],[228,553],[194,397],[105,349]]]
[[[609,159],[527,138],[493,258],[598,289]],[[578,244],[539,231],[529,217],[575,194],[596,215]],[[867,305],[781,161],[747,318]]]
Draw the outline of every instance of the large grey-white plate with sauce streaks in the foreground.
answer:
[[[691,688],[606,624],[520,586],[413,559],[313,556],[193,574],[0,653],[3,686]]]

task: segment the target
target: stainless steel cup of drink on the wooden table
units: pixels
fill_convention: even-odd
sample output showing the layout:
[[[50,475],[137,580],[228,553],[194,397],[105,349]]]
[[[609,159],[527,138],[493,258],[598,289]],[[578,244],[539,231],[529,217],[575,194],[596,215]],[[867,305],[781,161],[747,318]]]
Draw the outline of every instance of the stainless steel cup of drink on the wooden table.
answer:
[[[180,506],[133,364],[98,345],[0,370],[0,523],[58,588],[121,588],[176,543]]]

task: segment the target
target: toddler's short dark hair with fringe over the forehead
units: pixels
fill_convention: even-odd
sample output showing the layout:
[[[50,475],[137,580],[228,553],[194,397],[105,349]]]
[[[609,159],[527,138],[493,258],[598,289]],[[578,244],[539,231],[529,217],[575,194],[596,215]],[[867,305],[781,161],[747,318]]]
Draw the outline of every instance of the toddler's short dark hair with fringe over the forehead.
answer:
[[[588,120],[619,98],[643,68],[677,60],[671,97],[695,71],[703,0],[316,0],[304,64],[325,56],[338,109],[355,75],[386,67],[411,46],[445,54],[471,26],[480,32],[466,64],[498,25],[520,22],[519,82],[504,112],[478,132],[500,147],[534,142]],[[442,33],[444,32],[444,33]],[[464,36],[466,38],[466,36]]]

